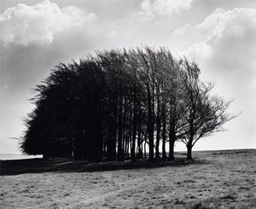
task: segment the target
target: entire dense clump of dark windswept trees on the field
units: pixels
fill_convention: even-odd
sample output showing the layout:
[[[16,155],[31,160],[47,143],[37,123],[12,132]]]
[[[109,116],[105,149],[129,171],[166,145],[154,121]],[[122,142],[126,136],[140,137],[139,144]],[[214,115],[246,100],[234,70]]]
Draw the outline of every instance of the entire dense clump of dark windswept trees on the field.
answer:
[[[105,50],[61,63],[35,88],[20,148],[76,160],[174,160],[181,141],[192,160],[195,142],[233,118],[230,102],[212,96],[213,85],[199,76],[194,62],[165,48]]]

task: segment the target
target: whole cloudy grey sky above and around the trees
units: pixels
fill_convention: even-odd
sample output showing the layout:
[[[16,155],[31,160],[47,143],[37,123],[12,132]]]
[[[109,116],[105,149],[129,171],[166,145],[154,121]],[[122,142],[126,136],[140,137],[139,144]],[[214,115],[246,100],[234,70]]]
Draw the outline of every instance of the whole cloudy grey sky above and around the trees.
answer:
[[[0,0],[0,14],[0,153],[20,153],[32,89],[56,64],[145,44],[197,62],[241,113],[195,150],[256,148],[255,0]]]

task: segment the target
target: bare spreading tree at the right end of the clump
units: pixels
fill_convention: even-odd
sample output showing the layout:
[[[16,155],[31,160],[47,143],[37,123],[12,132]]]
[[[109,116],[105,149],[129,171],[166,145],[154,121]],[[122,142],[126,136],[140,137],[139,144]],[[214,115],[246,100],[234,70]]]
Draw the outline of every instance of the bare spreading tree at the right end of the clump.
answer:
[[[183,59],[183,120],[185,134],[182,142],[187,147],[187,160],[192,160],[192,148],[202,137],[217,131],[224,131],[223,125],[236,115],[227,112],[231,101],[225,102],[219,96],[211,96],[213,84],[199,80],[197,65]]]

